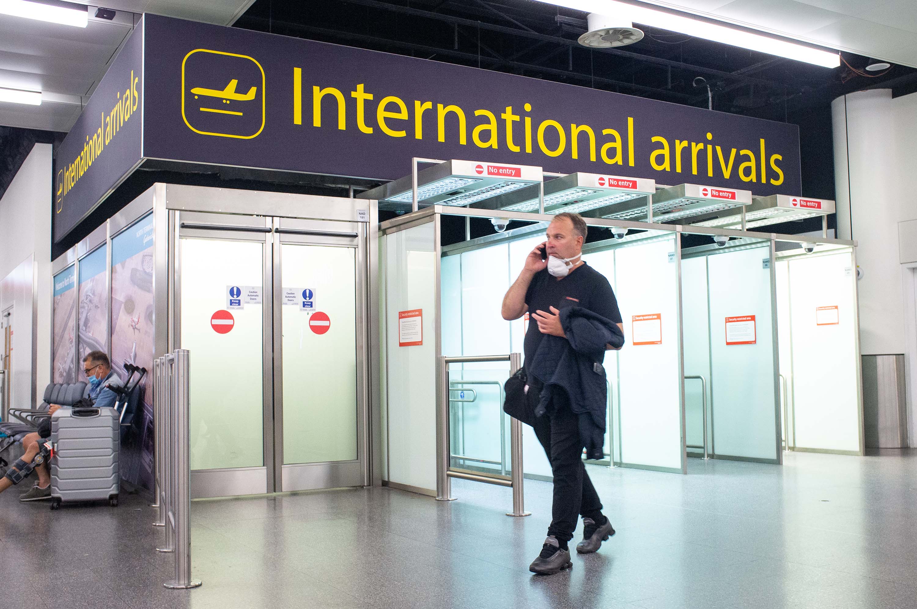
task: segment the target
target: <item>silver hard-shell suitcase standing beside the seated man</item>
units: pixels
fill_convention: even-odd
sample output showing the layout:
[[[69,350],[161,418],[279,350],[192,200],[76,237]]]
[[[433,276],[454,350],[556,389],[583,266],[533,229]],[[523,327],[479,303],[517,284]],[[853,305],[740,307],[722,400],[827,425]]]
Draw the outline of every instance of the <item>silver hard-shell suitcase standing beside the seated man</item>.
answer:
[[[114,408],[61,408],[51,417],[51,509],[61,502],[117,505],[120,422]]]

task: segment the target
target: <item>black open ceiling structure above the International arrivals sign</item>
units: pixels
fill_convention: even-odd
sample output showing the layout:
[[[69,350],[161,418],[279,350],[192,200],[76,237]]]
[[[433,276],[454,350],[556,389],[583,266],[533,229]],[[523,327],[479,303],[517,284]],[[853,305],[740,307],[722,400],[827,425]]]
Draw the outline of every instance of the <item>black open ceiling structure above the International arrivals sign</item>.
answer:
[[[834,199],[831,102],[867,88],[917,91],[917,70],[871,74],[868,58],[849,53],[827,69],[639,25],[646,36],[633,45],[590,49],[577,41],[586,16],[533,0],[257,0],[235,27],[793,123],[803,193],[825,199]],[[768,227],[820,229],[818,219]],[[490,233],[486,221],[472,228]]]

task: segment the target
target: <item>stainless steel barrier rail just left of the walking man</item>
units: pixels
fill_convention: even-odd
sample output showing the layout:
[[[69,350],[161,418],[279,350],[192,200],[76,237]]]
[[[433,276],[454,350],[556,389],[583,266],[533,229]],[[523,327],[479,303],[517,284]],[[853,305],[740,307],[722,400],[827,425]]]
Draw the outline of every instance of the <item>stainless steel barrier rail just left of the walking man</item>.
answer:
[[[440,357],[439,358],[439,388],[436,407],[436,501],[454,501],[452,496],[452,478],[461,478],[473,482],[509,486],[513,489],[513,511],[508,516],[527,516],[525,511],[525,496],[523,491],[523,459],[522,459],[522,423],[510,418],[510,480],[496,478],[486,474],[469,473],[467,471],[453,471],[452,447],[450,443],[450,396],[455,388],[448,380],[448,367],[453,363],[479,363],[484,361],[510,362],[510,375],[522,368],[522,354],[510,353],[508,355],[485,355],[479,357]],[[490,384],[490,383],[488,383]],[[501,393],[502,395],[503,393]],[[503,404],[500,404],[501,409]],[[501,420],[503,411],[501,410]],[[503,433],[501,433],[503,440]],[[501,453],[503,454],[503,452]],[[467,457],[465,459],[468,459]],[[485,461],[486,462],[486,461]]]

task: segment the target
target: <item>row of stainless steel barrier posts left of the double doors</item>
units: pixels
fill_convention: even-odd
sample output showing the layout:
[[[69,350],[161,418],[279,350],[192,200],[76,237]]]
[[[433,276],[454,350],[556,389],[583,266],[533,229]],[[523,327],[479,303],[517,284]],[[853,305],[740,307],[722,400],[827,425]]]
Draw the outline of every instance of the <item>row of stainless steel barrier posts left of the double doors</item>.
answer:
[[[153,421],[156,430],[156,504],[165,530],[160,552],[174,552],[175,577],[162,585],[196,588],[191,579],[191,467],[188,460],[188,350],[153,361]]]

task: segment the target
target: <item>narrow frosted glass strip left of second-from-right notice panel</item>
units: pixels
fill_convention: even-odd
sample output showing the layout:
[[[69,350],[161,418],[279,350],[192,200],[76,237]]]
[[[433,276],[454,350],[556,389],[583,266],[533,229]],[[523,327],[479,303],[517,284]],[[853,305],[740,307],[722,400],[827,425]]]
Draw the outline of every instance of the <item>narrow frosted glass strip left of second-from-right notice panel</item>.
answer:
[[[684,325],[685,376],[702,376],[706,379],[709,408],[712,387],[706,257],[681,260],[681,306],[683,318],[690,320]],[[703,393],[702,382],[697,379],[685,379],[685,428],[688,446],[703,447]],[[707,448],[710,448],[709,437]],[[688,448],[688,451],[701,453],[703,448]]]

